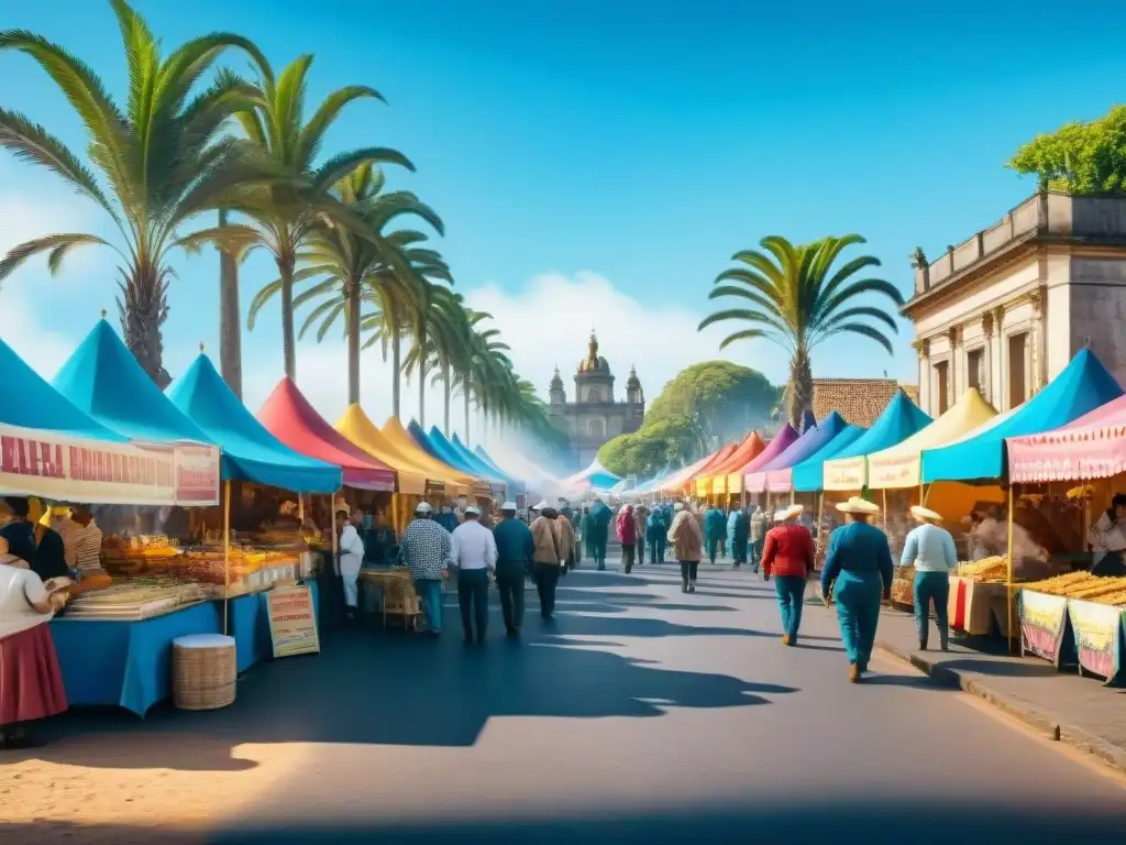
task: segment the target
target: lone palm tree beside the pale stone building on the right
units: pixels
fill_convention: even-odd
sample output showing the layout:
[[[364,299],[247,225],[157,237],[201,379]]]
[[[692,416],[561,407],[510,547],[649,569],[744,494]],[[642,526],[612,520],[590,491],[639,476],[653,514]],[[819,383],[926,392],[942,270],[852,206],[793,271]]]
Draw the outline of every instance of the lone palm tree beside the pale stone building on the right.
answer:
[[[884,308],[850,304],[866,293],[874,293],[900,306],[903,295],[881,278],[856,279],[879,259],[859,256],[833,272],[833,263],[848,247],[865,243],[858,234],[829,237],[814,243],[795,246],[785,238],[770,235],[760,241],[762,250],[736,252],[735,267],[718,275],[708,299],[733,296],[749,306],[717,311],[705,318],[699,330],[724,320],[750,323],[729,335],[720,344],[724,349],[736,340],[767,338],[790,355],[786,399],[789,420],[801,425],[802,415],[813,407],[813,372],[810,354],[817,344],[835,335],[859,335],[875,340],[892,354],[886,330],[899,331],[895,319]],[[725,284],[734,283],[734,284]],[[877,326],[864,322],[873,320]]]

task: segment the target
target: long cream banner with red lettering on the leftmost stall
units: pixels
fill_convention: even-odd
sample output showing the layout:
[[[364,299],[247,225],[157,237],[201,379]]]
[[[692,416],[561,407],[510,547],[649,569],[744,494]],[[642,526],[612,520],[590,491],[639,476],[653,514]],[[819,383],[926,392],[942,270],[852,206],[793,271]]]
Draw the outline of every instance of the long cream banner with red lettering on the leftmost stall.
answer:
[[[0,493],[98,505],[218,504],[220,450],[110,443],[0,424]]]

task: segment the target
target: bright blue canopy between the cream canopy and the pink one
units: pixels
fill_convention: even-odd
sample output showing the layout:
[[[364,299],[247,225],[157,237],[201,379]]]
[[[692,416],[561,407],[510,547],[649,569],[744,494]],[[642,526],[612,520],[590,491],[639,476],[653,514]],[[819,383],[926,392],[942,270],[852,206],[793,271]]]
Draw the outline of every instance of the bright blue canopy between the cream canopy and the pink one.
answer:
[[[1024,404],[957,443],[922,453],[923,483],[997,480],[1004,473],[1004,438],[1039,434],[1071,422],[1123,395],[1090,349],[1080,349],[1052,383]]]

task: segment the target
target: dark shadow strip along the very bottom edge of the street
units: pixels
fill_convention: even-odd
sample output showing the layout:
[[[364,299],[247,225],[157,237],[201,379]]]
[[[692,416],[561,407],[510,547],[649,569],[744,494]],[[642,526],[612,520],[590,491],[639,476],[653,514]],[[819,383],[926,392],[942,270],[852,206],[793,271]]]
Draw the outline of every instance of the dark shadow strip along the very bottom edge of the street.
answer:
[[[503,845],[528,843],[554,845],[582,842],[607,843],[823,843],[864,842],[866,845],[902,845],[904,824],[910,820],[912,845],[947,845],[949,842],[1020,842],[1022,845],[1058,845],[1084,837],[1118,836],[1126,813],[1123,810],[1090,808],[1083,815],[1052,812],[1031,806],[935,807],[924,802],[888,806],[875,798],[848,807],[819,804],[802,807],[774,804],[739,808],[682,808],[649,810],[616,816],[575,818],[427,820],[425,822],[372,821],[348,824],[325,819],[312,824],[287,822],[272,828],[244,828],[213,835],[178,834],[172,830],[134,828],[126,825],[82,826],[69,822],[0,824],[0,840],[36,843],[113,842],[211,843],[212,845],[265,845],[277,842],[368,843],[397,845]]]

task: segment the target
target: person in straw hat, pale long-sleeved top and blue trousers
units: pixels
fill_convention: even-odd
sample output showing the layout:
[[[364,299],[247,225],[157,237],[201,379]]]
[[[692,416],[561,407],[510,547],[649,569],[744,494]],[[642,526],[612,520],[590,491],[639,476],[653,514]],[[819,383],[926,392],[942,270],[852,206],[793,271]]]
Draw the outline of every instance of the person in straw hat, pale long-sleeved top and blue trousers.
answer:
[[[911,516],[919,522],[919,526],[908,533],[900,566],[914,566],[915,569],[914,605],[919,648],[927,650],[927,634],[930,630],[928,616],[933,603],[938,643],[942,651],[948,651],[950,630],[946,616],[947,602],[950,598],[950,573],[958,569],[958,552],[950,532],[939,525],[942,522],[941,514],[913,505]]]

